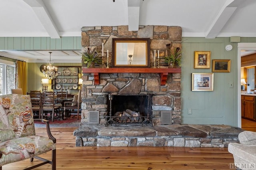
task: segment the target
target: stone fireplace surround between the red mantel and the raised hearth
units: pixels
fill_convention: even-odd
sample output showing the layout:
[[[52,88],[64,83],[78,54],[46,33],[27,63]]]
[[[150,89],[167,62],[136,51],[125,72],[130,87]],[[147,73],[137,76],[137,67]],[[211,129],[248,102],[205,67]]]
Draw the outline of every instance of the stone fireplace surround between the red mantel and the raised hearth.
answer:
[[[100,84],[94,85],[94,76],[91,74],[85,75],[86,81],[83,82],[83,92],[86,94],[86,98],[83,98],[82,104],[82,122],[90,123],[89,111],[99,111],[100,124],[106,123],[106,116],[109,116],[110,104],[108,95],[113,96],[112,115],[118,111],[124,111],[126,109],[133,109],[137,112],[142,112],[143,116],[146,116],[148,111],[152,118],[154,126],[161,124],[161,111],[170,111],[172,114],[172,123],[181,123],[181,101],[180,101],[180,73],[168,74],[166,85],[160,85],[160,76],[157,73],[118,73],[118,74],[100,74]],[[85,84],[88,84],[85,86]],[[89,85],[91,84],[91,85]],[[126,99],[124,98],[126,96]],[[119,108],[120,102],[123,100],[129,100],[131,96],[136,96],[133,100],[145,99],[150,96],[150,101],[140,101],[141,104],[135,104],[134,101],[130,101],[134,107],[127,106],[127,108]],[[139,96],[144,96],[139,98]],[[116,99],[118,101],[116,101]],[[149,109],[147,106],[149,103]],[[129,104],[129,103],[128,103]],[[141,106],[143,105],[143,106]],[[129,108],[128,108],[129,107]],[[139,109],[139,107],[141,107]],[[146,108],[145,108],[146,107]]]

